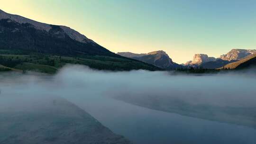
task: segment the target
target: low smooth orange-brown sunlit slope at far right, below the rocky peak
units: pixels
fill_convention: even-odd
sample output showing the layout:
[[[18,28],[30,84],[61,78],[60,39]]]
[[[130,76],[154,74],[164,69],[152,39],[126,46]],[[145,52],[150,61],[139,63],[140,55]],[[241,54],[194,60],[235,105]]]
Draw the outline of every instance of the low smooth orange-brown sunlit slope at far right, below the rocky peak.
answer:
[[[229,63],[223,67],[219,67],[219,69],[242,69],[253,65],[256,65],[256,54],[250,54],[237,62]]]

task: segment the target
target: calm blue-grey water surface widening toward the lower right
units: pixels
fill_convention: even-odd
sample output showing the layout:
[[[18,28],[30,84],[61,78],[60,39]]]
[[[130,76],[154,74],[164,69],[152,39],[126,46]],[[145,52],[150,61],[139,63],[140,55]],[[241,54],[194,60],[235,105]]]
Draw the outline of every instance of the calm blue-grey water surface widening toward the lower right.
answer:
[[[256,144],[256,129],[98,98],[77,105],[134,144]]]

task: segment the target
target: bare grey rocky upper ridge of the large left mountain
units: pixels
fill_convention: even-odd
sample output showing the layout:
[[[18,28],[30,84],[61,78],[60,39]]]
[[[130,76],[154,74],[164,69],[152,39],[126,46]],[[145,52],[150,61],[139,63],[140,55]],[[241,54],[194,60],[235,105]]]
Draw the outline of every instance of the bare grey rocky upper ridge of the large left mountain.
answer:
[[[52,29],[52,25],[37,22],[35,20],[29,19],[29,18],[24,18],[24,17],[18,16],[18,15],[9,14],[9,13],[2,11],[1,9],[0,9],[0,19],[9,19],[9,20],[15,21],[19,24],[28,23],[28,24],[31,24],[36,29],[45,30],[46,32],[49,32]],[[61,27],[64,30],[65,34],[67,34],[73,40],[79,41],[81,43],[95,43],[91,39],[87,38],[86,36],[80,34],[77,31],[71,29],[70,27],[66,27],[66,26],[59,26],[59,27]]]

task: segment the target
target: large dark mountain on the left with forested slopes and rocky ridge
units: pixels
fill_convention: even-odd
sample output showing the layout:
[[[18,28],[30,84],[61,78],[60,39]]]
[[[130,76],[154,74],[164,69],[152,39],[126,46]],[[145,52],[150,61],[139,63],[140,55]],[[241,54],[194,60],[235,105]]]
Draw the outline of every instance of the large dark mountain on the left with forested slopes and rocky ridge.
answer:
[[[112,53],[70,27],[40,23],[2,10],[0,54],[4,59],[4,62],[0,62],[1,65],[11,65],[12,68],[22,70],[38,70],[35,68],[37,66],[45,71],[45,68],[41,68],[42,65],[57,69],[65,63],[84,64],[100,70],[161,70]],[[59,59],[59,56],[62,57]]]

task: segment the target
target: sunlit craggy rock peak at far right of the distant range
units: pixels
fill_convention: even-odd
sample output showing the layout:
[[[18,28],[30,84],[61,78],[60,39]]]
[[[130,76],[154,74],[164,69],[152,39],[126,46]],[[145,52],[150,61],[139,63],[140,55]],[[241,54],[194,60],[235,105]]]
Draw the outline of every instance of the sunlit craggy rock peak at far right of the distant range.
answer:
[[[240,60],[252,54],[256,54],[256,50],[232,49],[227,54],[220,55],[219,58],[226,61]]]

